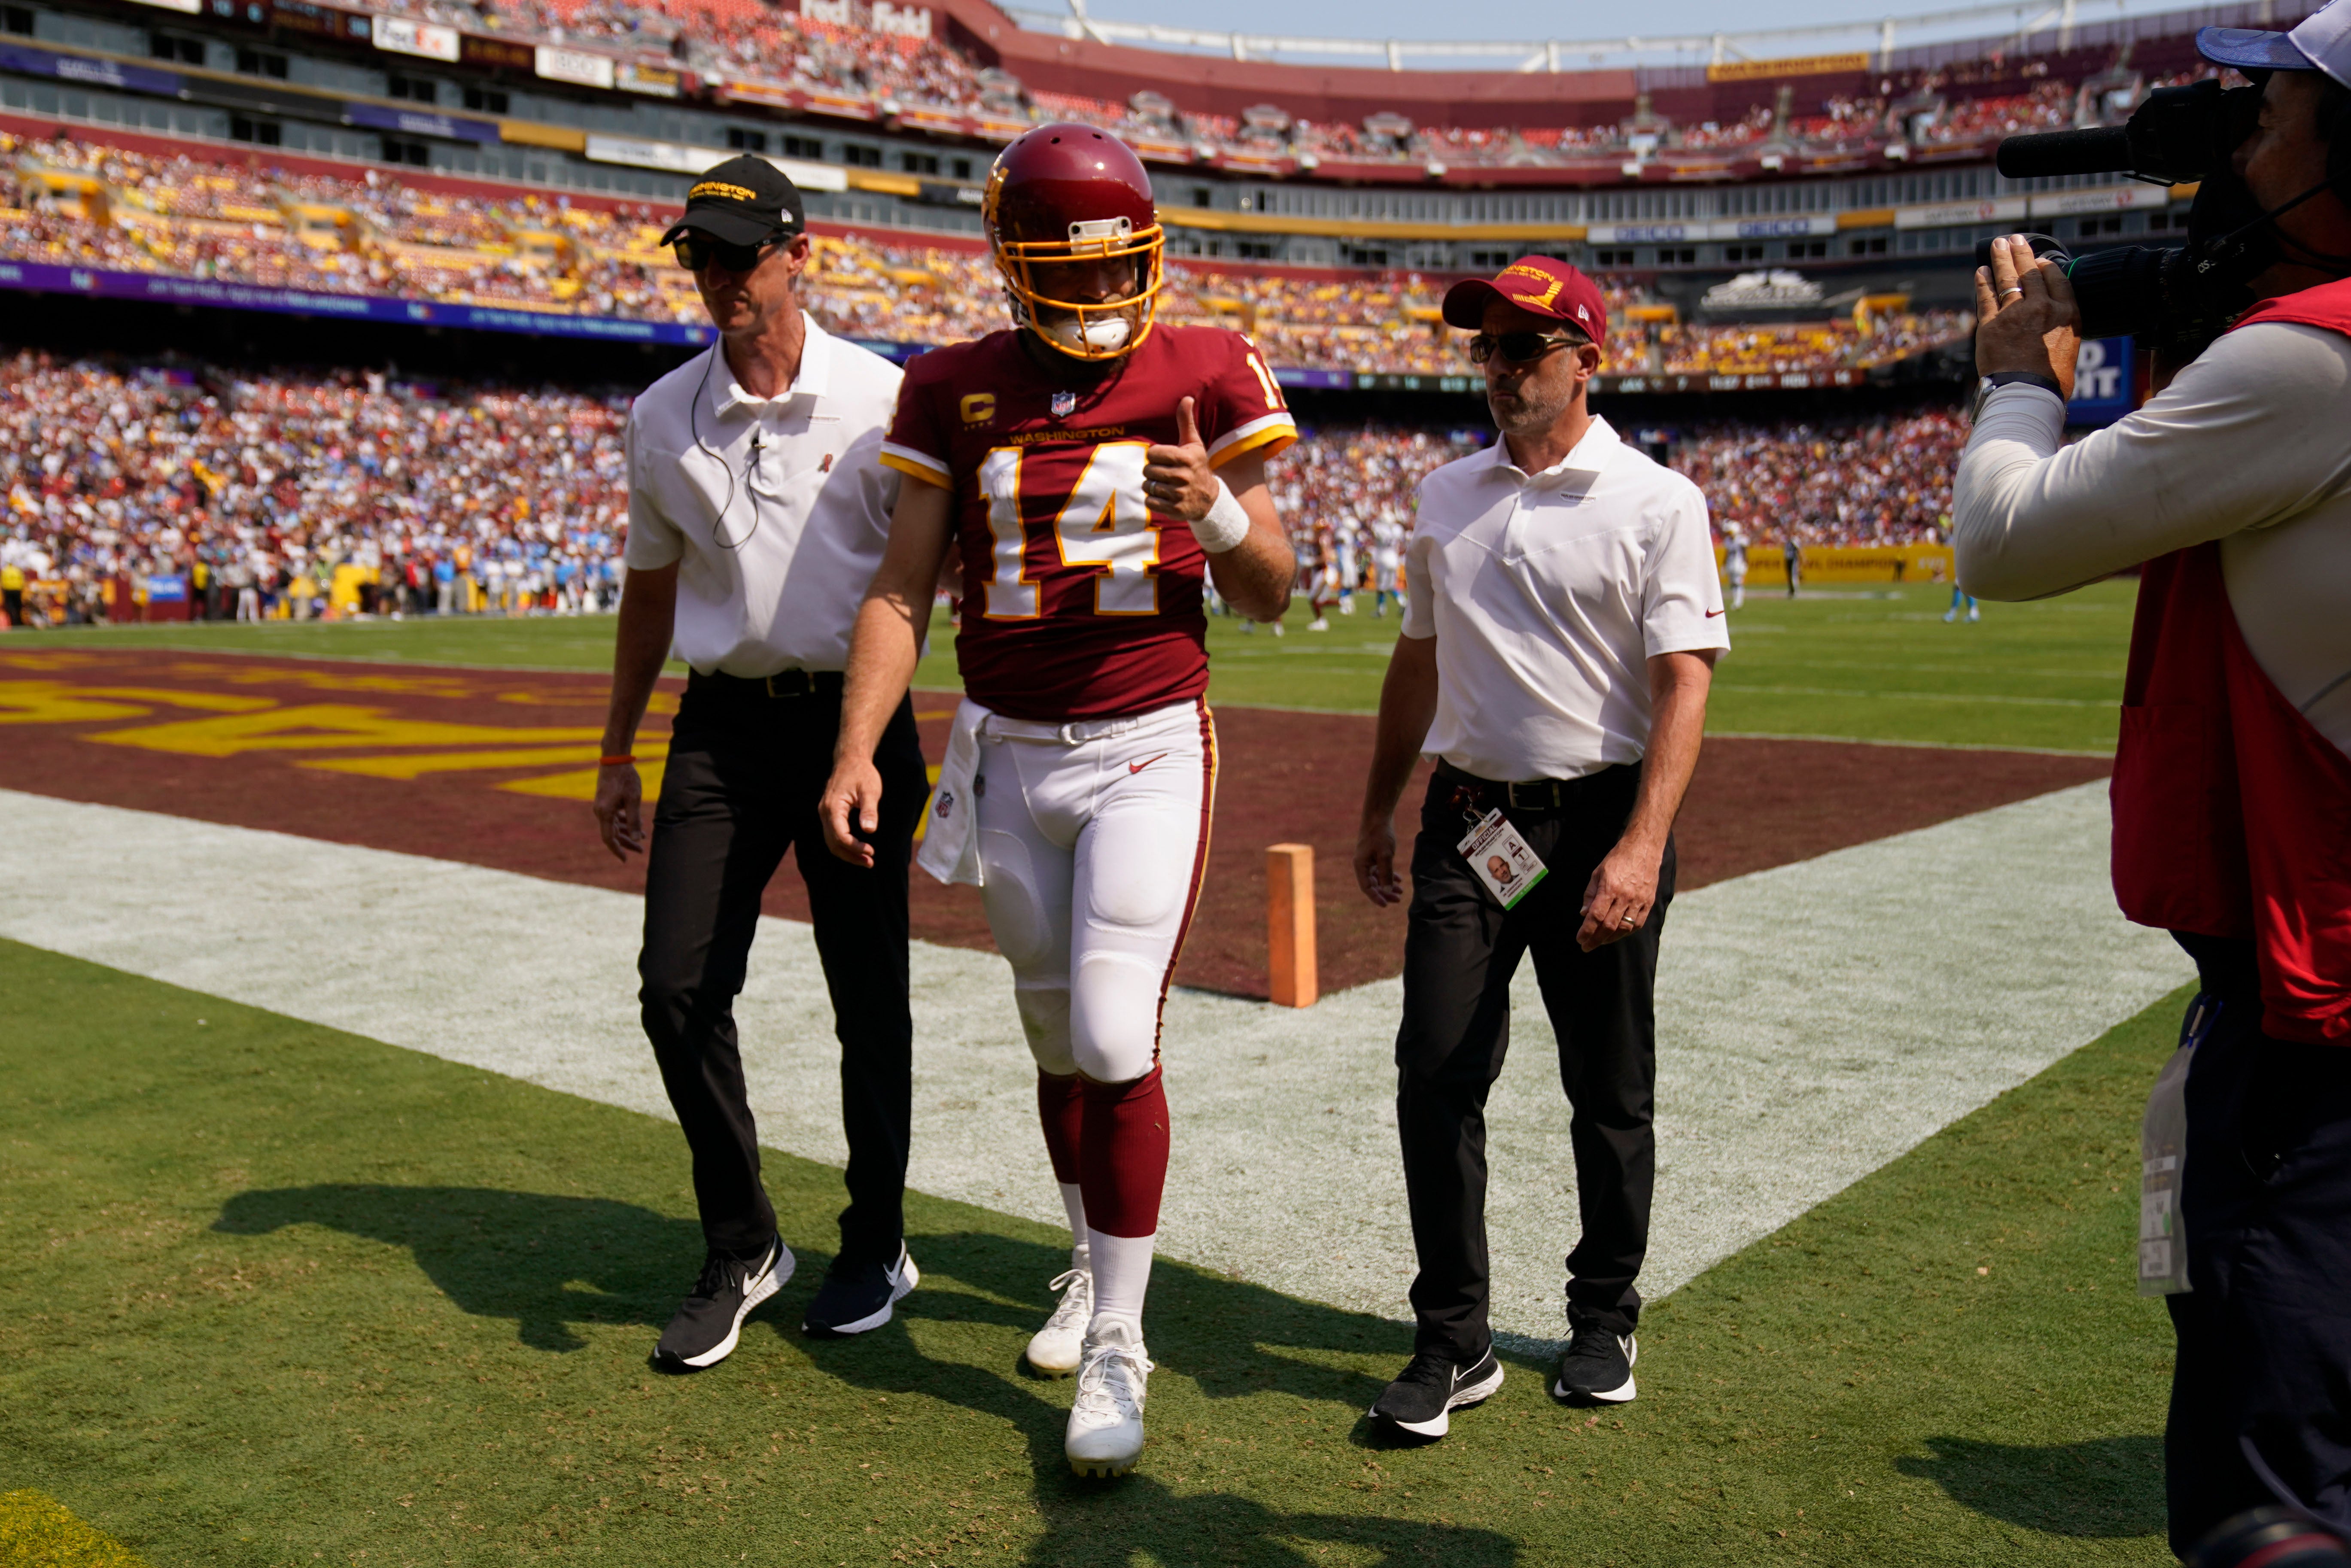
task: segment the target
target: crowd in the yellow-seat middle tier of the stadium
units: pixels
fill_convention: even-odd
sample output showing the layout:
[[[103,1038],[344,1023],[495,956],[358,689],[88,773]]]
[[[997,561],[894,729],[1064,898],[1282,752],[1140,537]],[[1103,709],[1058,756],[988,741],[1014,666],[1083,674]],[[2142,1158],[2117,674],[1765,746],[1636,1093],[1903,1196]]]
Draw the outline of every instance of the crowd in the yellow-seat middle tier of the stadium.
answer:
[[[367,169],[355,179],[148,158],[99,141],[0,132],[0,256],[263,287],[383,294],[527,310],[701,322],[694,280],[661,249],[651,207],[590,207],[517,190],[451,195]],[[1161,320],[1218,322],[1277,367],[1465,374],[1436,320],[1444,280],[1168,263]],[[1850,369],[1965,329],[1951,313],[1801,327],[1632,322],[1653,303],[1610,282],[1615,369],[1751,374]],[[823,235],[809,308],[844,336],[952,343],[1004,324],[990,261],[964,249]]]

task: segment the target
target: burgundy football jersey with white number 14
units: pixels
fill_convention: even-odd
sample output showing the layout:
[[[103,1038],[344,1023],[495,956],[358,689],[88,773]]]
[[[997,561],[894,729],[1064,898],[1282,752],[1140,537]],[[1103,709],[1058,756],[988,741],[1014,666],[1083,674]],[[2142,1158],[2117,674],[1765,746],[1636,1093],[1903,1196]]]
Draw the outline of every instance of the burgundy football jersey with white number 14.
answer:
[[[1185,397],[1215,465],[1298,440],[1265,360],[1220,327],[1159,327],[1107,374],[1037,364],[1020,331],[905,367],[882,461],[955,491],[973,703],[1103,719],[1208,689],[1208,557],[1143,498],[1143,454],[1176,440]]]

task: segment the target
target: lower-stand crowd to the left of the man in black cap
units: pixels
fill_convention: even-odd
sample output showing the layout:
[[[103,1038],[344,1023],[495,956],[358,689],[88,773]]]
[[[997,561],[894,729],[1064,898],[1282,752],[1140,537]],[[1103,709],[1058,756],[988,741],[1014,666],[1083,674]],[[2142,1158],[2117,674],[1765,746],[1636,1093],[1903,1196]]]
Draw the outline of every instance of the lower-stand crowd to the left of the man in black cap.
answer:
[[[625,529],[625,397],[0,360],[0,550],[56,621],[588,609]],[[172,588],[165,588],[169,583]]]

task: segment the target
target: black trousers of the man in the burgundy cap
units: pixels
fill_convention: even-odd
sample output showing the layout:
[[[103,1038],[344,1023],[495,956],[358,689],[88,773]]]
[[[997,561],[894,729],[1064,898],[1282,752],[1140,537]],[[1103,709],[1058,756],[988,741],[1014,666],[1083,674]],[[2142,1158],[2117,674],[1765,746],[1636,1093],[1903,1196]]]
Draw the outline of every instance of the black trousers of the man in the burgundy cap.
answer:
[[[1634,1276],[1648,1253],[1657,1178],[1650,1110],[1657,1086],[1657,936],[1674,896],[1667,839],[1648,924],[1594,952],[1575,945],[1585,884],[1615,849],[1641,788],[1639,766],[1603,769],[1563,788],[1547,811],[1505,811],[1549,875],[1519,907],[1462,860],[1469,823],[1500,792],[1448,769],[1429,780],[1413,844],[1413,903],[1404,936],[1404,1027],[1396,1032],[1396,1131],[1413,1215],[1418,1349],[1458,1361],[1486,1352],[1486,1091],[1509,1048],[1509,980],[1535,959],[1542,1006],[1559,1034],[1568,1091],[1582,1237],[1568,1253],[1568,1319],[1632,1333]]]

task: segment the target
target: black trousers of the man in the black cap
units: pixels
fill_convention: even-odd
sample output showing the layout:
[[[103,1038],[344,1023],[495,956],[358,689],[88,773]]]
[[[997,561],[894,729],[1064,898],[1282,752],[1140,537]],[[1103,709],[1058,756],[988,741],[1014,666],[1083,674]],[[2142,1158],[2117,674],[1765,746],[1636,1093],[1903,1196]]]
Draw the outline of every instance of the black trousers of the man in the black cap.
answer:
[[[842,1041],[849,1208],[842,1258],[891,1260],[905,1229],[915,1023],[907,1011],[905,877],[929,795],[915,708],[875,748],[882,832],[872,870],[825,849],[816,799],[832,771],[839,686],[771,698],[694,677],[677,708],[644,879],[644,1032],[694,1152],[694,1199],[712,1251],[776,1234],[759,1185],[759,1128],[743,1093],[734,999],[759,926],[759,893],[790,849],[809,886],[816,952]]]

